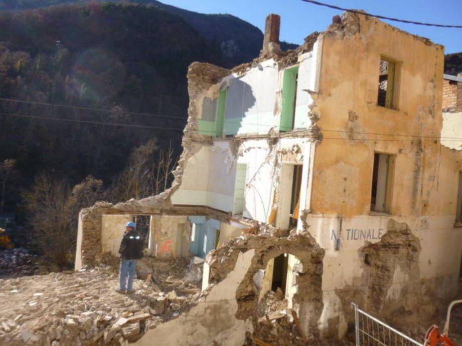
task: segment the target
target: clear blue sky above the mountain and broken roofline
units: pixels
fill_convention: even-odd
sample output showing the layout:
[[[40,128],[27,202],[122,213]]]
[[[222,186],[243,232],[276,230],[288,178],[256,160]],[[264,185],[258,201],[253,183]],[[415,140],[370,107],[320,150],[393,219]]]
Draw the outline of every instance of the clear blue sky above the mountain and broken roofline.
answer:
[[[332,17],[341,11],[300,0],[160,0],[161,2],[200,13],[226,13],[239,17],[263,30],[270,13],[281,16],[281,41],[301,44],[314,31],[323,31]],[[318,0],[347,9],[416,22],[462,25],[462,0]],[[402,30],[423,36],[445,46],[445,53],[462,52],[462,29],[443,29],[388,22]]]

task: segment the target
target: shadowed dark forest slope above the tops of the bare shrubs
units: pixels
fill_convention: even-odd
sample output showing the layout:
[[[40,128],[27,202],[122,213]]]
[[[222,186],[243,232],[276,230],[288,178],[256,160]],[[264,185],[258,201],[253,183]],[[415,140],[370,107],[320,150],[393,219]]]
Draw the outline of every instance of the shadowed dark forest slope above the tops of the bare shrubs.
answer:
[[[217,45],[156,7],[7,11],[0,28],[0,183],[9,175],[0,213],[22,210],[41,172],[71,186],[88,174],[110,184],[150,139],[172,141],[178,154],[189,64],[225,65]]]

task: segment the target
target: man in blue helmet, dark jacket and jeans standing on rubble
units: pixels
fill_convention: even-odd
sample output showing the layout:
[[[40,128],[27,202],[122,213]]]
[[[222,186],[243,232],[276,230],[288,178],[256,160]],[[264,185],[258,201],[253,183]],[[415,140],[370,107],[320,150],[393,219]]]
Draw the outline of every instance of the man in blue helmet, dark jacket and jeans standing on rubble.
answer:
[[[127,222],[125,228],[126,231],[123,234],[122,242],[119,247],[120,288],[117,291],[128,294],[133,292],[133,278],[135,275],[136,262],[143,256],[143,237],[135,229],[136,224],[134,222]]]

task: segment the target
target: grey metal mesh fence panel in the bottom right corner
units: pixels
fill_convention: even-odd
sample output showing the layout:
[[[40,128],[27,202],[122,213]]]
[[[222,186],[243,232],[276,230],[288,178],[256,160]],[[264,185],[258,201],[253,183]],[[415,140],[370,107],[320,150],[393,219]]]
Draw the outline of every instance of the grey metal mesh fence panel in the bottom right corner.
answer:
[[[356,346],[424,346],[364,312],[355,303],[351,305],[355,310]]]

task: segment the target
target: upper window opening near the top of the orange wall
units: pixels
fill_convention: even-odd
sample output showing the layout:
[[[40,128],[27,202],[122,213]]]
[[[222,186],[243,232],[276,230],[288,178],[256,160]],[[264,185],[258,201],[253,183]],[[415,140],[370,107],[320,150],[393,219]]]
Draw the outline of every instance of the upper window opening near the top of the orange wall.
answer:
[[[396,65],[397,63],[389,59],[380,59],[379,88],[377,96],[377,105],[394,108],[395,90],[396,90]]]

